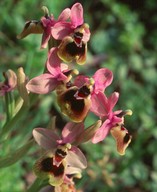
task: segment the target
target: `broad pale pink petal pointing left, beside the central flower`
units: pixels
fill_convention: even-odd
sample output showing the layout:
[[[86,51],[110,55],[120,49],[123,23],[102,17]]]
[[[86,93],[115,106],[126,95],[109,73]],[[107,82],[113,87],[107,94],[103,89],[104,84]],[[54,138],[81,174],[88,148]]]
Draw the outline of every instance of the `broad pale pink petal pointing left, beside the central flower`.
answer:
[[[58,81],[51,74],[45,73],[31,79],[26,88],[28,91],[37,94],[47,94],[53,91],[58,85]]]

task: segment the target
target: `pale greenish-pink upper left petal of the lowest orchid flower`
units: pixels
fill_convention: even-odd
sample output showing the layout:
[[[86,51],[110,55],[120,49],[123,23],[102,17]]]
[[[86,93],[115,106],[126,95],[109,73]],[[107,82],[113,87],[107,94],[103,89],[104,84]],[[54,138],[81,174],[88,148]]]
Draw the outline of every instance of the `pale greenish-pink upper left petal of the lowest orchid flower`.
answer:
[[[33,130],[33,137],[38,145],[46,150],[55,149],[57,146],[56,140],[59,139],[50,129],[44,128],[35,128]]]

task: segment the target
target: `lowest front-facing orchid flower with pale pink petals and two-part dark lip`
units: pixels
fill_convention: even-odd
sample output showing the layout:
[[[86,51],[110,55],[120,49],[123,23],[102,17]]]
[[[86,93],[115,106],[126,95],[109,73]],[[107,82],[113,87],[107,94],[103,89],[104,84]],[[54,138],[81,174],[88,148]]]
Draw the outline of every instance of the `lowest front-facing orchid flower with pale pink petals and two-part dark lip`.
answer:
[[[71,145],[83,131],[83,124],[67,123],[60,138],[53,130],[36,128],[33,136],[36,142],[47,151],[34,166],[37,176],[49,178],[52,186],[61,185],[67,175],[81,174],[87,166],[81,150]]]

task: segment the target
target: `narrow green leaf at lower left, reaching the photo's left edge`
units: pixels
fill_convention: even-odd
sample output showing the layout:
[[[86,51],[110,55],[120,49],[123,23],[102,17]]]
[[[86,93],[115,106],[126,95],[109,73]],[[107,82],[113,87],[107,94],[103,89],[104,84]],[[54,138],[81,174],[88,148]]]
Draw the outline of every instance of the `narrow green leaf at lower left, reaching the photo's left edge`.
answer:
[[[9,153],[6,157],[0,158],[0,168],[11,166],[19,161],[31,149],[33,142],[33,140],[30,140],[27,144]]]

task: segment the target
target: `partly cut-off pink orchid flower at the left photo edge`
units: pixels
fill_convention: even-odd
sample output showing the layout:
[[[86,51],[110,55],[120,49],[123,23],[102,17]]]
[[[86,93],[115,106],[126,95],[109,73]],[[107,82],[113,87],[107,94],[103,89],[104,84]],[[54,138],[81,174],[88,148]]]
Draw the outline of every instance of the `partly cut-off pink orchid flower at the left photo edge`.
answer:
[[[9,69],[7,72],[3,73],[5,81],[0,82],[0,96],[4,96],[7,92],[15,89],[17,85],[17,76]]]

